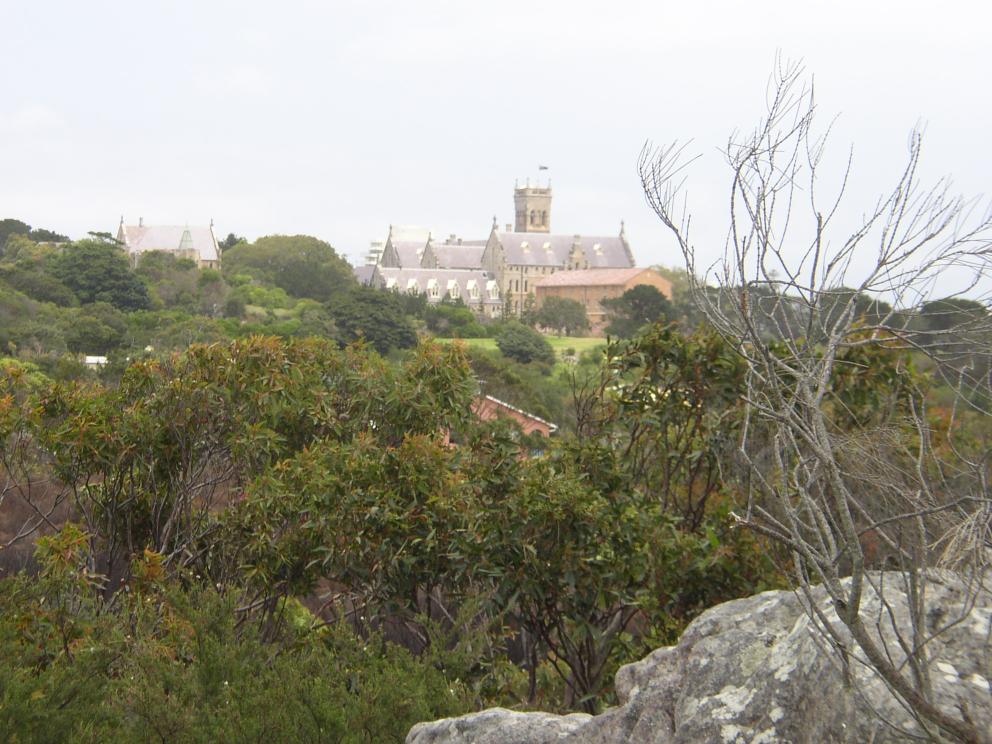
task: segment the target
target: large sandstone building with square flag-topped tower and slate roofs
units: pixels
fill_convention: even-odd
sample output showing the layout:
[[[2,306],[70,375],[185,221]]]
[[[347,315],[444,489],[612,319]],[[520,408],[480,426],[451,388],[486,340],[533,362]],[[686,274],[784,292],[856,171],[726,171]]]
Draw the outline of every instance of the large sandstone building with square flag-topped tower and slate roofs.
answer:
[[[551,232],[551,197],[550,184],[516,186],[514,229],[500,230],[493,218],[486,239],[411,240],[390,228],[378,263],[362,279],[425,293],[430,302],[461,298],[478,314],[499,317],[519,316],[537,301],[537,284],[557,272],[634,266],[623,222],[617,235]]]

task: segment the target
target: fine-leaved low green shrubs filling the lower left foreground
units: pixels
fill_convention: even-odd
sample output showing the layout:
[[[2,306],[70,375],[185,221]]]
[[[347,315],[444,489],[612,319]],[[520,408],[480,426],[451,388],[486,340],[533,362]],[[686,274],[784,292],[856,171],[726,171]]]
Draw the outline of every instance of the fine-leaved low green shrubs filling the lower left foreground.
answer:
[[[239,629],[235,599],[164,579],[146,551],[117,611],[101,612],[87,536],[39,543],[41,572],[0,592],[0,730],[17,742],[402,742],[467,712],[456,679],[381,636],[321,628],[296,605],[277,643]]]

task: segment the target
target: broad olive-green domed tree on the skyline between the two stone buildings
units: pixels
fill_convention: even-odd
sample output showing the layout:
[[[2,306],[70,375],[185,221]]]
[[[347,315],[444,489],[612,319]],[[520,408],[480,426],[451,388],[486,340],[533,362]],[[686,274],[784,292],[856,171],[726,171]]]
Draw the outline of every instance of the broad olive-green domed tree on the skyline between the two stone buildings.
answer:
[[[355,284],[351,266],[323,240],[309,235],[269,235],[224,253],[225,275],[250,274],[293,297],[326,302]]]

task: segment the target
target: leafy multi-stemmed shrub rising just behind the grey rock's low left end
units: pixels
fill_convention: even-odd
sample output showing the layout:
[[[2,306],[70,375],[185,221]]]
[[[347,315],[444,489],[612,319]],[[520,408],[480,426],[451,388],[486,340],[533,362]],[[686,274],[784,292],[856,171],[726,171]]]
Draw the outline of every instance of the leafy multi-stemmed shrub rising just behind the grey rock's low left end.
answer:
[[[547,656],[565,705],[596,712],[646,585],[650,508],[571,457],[525,460],[499,437],[479,442],[466,470],[474,516],[457,552],[524,631],[530,699]]]

